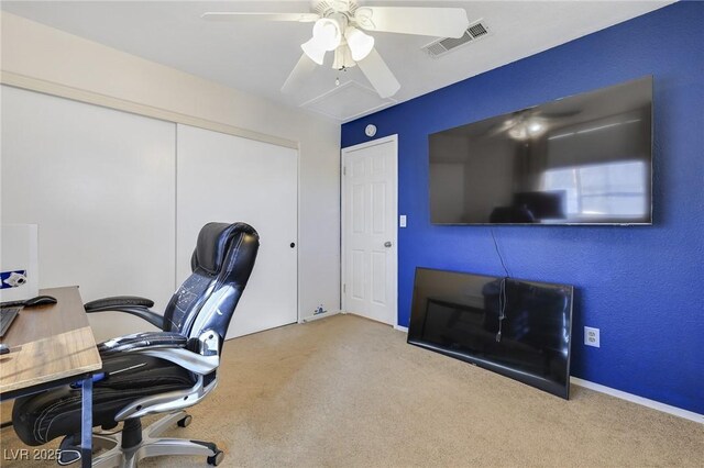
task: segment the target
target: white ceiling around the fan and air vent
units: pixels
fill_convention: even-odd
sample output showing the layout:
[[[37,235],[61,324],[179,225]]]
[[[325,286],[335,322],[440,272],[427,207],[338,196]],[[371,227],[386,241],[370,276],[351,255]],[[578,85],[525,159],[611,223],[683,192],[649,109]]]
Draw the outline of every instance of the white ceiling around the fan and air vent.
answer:
[[[336,92],[371,88],[354,67],[318,67],[295,96],[279,89],[310,37],[310,23],[206,22],[206,11],[307,12],[309,1],[2,1],[2,10],[276,102],[348,121],[534,55],[672,3],[610,1],[361,1],[370,5],[461,7],[470,22],[483,20],[491,35],[440,57],[421,51],[433,37],[372,33],[376,48],[402,85],[392,100],[365,96],[364,105],[334,101]],[[351,88],[350,88],[351,87]],[[362,91],[364,91],[362,89]],[[349,99],[349,98],[348,98]],[[323,104],[324,101],[324,105]],[[311,104],[312,103],[312,104]],[[330,112],[340,105],[339,112]],[[345,111],[342,108],[350,108]],[[345,109],[346,109],[345,108]],[[324,109],[324,111],[321,111]]]

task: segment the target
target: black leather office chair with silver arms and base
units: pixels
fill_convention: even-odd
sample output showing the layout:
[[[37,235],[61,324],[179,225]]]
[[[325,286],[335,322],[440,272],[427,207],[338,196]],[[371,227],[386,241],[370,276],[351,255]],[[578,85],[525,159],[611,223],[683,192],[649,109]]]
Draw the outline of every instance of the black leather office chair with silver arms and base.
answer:
[[[108,431],[119,422],[124,425],[113,435],[94,433],[94,447],[107,449],[94,458],[94,467],[134,467],[140,459],[158,455],[205,455],[210,465],[222,460],[222,452],[212,443],[157,436],[176,423],[187,425],[190,416],[183,409],[215,389],[222,343],[257,249],[258,235],[252,226],[209,223],[198,235],[193,275],[172,297],[164,315],[152,312],[154,302],[143,298],[86,304],[89,313],[122,311],[162,328],[99,345],[105,378],[94,386],[94,426]],[[62,447],[76,448],[80,410],[80,389],[66,386],[18,399],[12,422],[28,445],[65,436]],[[142,431],[141,417],[154,413],[168,414]]]

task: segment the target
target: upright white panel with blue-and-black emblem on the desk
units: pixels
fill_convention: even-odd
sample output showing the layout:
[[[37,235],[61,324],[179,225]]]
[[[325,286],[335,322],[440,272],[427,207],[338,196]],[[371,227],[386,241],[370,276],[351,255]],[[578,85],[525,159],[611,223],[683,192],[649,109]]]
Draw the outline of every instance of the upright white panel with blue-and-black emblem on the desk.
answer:
[[[0,234],[0,302],[38,296],[36,224],[3,224]]]

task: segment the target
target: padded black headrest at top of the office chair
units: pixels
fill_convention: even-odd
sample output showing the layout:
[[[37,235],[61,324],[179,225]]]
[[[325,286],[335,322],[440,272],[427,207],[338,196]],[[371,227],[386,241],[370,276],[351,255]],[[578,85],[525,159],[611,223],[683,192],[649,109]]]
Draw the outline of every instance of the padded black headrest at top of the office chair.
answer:
[[[202,268],[211,275],[216,275],[222,268],[222,263],[230,247],[231,241],[238,234],[250,234],[257,236],[254,227],[246,223],[208,223],[198,234],[196,250],[191,257],[191,268]]]

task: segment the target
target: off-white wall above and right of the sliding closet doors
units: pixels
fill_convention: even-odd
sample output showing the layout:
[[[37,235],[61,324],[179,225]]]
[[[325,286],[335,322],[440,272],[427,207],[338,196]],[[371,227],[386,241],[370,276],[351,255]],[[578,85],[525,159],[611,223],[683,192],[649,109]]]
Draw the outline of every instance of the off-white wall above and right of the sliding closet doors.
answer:
[[[320,303],[339,308],[337,122],[13,14],[1,16],[2,71],[299,142],[299,311],[306,317]]]

